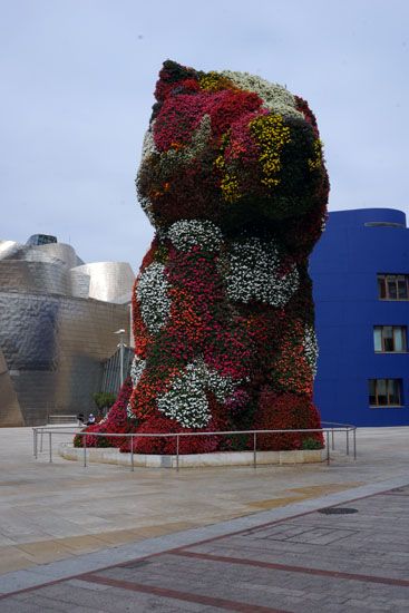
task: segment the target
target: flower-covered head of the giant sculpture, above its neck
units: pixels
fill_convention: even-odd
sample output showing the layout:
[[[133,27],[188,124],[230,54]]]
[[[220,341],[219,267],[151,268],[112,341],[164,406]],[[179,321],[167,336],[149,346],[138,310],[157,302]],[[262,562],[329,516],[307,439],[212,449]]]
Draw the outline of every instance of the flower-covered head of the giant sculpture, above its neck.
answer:
[[[227,232],[321,226],[328,177],[315,118],[284,87],[165,61],[137,177],[155,227],[205,218]],[[295,226],[294,226],[295,227]]]

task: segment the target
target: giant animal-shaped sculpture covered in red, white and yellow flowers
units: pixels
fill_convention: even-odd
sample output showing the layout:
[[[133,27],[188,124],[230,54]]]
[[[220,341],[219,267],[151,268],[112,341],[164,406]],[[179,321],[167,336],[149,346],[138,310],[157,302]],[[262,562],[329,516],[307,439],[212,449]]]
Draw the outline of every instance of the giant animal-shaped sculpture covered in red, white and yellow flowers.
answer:
[[[329,181],[308,104],[165,61],[136,179],[156,235],[133,295],[135,431],[319,428],[308,256]],[[319,435],[260,437],[300,448]],[[136,437],[135,450],[172,451]],[[184,453],[245,447],[186,437]]]

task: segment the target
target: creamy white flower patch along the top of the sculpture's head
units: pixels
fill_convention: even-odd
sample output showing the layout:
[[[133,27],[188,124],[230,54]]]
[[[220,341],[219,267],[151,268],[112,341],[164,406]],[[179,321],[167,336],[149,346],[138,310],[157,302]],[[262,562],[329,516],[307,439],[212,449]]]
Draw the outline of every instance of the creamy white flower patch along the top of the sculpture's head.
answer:
[[[222,75],[241,89],[257,94],[264,101],[265,108],[283,117],[304,119],[303,114],[296,110],[294,96],[282,85],[266,81],[249,72],[232,72],[231,70],[224,70]]]

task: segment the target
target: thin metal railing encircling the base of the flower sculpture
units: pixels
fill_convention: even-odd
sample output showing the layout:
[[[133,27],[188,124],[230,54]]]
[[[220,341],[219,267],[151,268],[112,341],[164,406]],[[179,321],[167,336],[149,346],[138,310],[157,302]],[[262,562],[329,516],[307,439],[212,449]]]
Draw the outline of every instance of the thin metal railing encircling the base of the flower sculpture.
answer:
[[[327,449],[327,464],[329,465],[331,461],[331,455],[330,455],[330,446],[332,450],[335,449],[335,434],[337,432],[343,432],[345,435],[345,454],[347,456],[350,455],[350,434],[352,434],[352,455],[353,459],[357,459],[357,427],[345,424],[334,424],[331,421],[323,421],[322,428],[300,428],[300,429],[281,429],[281,430],[224,430],[218,432],[158,432],[158,434],[139,434],[139,432],[133,432],[133,434],[117,434],[117,432],[87,432],[87,431],[78,431],[78,430],[70,430],[70,431],[62,431],[62,428],[59,428],[58,430],[52,430],[50,428],[46,427],[35,427],[32,428],[32,435],[33,435],[33,456],[36,459],[38,459],[39,453],[43,451],[43,435],[48,435],[48,453],[49,453],[49,461],[52,463],[52,435],[71,435],[71,436],[80,436],[80,437],[106,437],[106,438],[130,438],[130,470],[135,470],[135,461],[134,461],[134,439],[135,438],[175,438],[176,439],[176,454],[168,454],[169,456],[176,455],[176,470],[179,470],[179,456],[182,455],[179,453],[179,442],[181,438],[183,437],[210,437],[210,436],[234,436],[234,435],[247,435],[253,436],[253,466],[256,468],[257,466],[257,435],[289,435],[289,434],[322,434],[324,436],[324,449]],[[39,439],[40,439],[40,449],[39,449]],[[330,445],[331,440],[331,445]],[[87,438],[84,439],[82,449],[84,449],[84,467],[87,467],[87,451],[90,448],[95,448],[95,446],[88,446],[87,447]],[[263,449],[265,450],[265,449]],[[306,449],[304,449],[306,450]]]

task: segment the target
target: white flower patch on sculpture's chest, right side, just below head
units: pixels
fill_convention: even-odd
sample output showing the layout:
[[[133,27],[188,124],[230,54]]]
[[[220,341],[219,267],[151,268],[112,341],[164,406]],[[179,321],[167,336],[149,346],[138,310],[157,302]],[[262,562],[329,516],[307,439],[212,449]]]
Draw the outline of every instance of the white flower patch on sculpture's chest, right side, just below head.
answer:
[[[272,306],[284,306],[298,290],[300,280],[295,265],[281,276],[280,255],[273,242],[253,237],[233,243],[227,255],[227,295],[237,302],[257,300]]]

